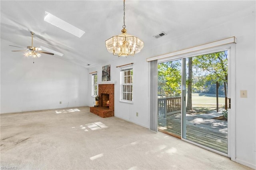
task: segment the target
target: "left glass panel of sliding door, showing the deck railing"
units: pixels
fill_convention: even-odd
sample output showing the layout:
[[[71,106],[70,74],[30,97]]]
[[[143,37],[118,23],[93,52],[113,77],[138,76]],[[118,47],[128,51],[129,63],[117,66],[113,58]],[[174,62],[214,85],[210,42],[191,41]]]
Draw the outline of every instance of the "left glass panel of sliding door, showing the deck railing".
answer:
[[[182,60],[158,63],[158,130],[181,137]]]

